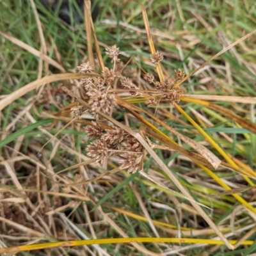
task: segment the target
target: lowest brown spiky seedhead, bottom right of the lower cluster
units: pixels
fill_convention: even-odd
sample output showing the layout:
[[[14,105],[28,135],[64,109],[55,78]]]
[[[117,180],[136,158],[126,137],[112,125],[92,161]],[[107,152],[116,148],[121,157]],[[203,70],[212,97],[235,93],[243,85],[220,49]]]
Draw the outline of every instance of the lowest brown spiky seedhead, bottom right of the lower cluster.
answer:
[[[140,168],[140,166],[142,167],[143,154],[138,155],[138,154],[134,154],[134,153],[126,153],[126,154],[124,154],[123,157],[125,159],[120,160],[120,163],[122,163],[120,168],[128,169],[129,173],[135,173],[138,170],[138,168]],[[143,169],[143,168],[141,168],[141,169]]]

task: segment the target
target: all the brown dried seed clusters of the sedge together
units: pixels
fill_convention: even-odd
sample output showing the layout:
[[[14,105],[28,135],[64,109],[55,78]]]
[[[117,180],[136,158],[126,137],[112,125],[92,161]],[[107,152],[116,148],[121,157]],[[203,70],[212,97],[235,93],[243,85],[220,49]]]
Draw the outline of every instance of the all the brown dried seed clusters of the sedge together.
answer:
[[[88,104],[90,104],[90,113],[95,117],[95,122],[92,125],[87,125],[84,130],[90,138],[94,141],[87,146],[87,155],[95,158],[96,163],[103,163],[105,159],[113,156],[122,156],[120,161],[120,168],[128,169],[128,172],[134,173],[137,170],[141,170],[143,166],[144,148],[136,138],[133,138],[120,127],[111,127],[111,129],[102,129],[101,121],[104,121],[98,115],[99,111],[110,115],[111,109],[115,106],[115,95],[111,86],[113,82],[118,79],[120,72],[116,72],[116,68],[122,69],[124,64],[121,65],[118,58],[119,48],[116,45],[106,48],[106,54],[111,58],[113,63],[112,68],[105,67],[102,70],[102,74],[99,77],[87,77],[81,79],[80,85],[86,90],[88,96]],[[163,54],[156,52],[150,58],[154,64],[159,64],[163,60]],[[85,74],[95,74],[94,68],[87,61],[77,67],[79,72]],[[134,75],[134,74],[133,74]],[[182,70],[175,70],[174,79],[165,78],[163,81],[155,81],[152,74],[145,74],[144,80],[148,84],[154,84],[154,95],[149,97],[145,102],[148,106],[155,106],[160,99],[167,99],[172,104],[179,103],[183,90],[179,86],[175,86],[176,82],[182,81],[185,74]],[[132,96],[138,95],[136,81],[131,78],[132,76],[122,76],[119,80],[119,86]],[[152,91],[149,91],[151,93]],[[143,92],[140,91],[141,94]],[[157,96],[155,96],[157,94]],[[147,94],[148,96],[148,94]],[[155,96],[155,97],[154,97]],[[82,106],[76,106],[71,109],[71,115],[74,118],[79,118],[83,111]]]

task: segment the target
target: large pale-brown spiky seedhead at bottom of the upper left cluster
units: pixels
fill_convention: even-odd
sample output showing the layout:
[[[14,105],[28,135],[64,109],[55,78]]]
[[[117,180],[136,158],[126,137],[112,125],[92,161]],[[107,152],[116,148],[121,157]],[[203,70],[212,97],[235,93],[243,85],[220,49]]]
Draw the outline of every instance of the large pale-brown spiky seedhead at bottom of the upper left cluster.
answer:
[[[113,106],[115,106],[115,95],[102,93],[99,90],[92,90],[86,93],[90,98],[88,104],[92,106],[91,111],[97,113],[99,111],[109,114]]]

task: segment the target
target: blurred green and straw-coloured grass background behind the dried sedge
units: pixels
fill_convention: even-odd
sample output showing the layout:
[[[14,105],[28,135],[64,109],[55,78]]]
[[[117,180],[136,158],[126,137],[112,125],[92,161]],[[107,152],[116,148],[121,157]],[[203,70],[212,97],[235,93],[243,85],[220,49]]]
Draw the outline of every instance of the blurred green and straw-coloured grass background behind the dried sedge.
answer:
[[[51,74],[77,72],[77,65],[88,60],[84,24],[76,22],[78,6],[70,1],[71,24],[58,19],[58,12],[46,10],[35,1],[43,36],[38,32],[33,1],[0,1],[0,108],[6,95],[24,88],[36,79]],[[97,3],[97,1],[95,1]],[[95,4],[94,3],[94,4]],[[255,29],[256,3],[244,1],[140,1],[147,11],[152,40],[161,52],[164,76],[173,77],[179,68],[186,75],[200,67],[214,54]],[[97,40],[106,67],[111,59],[106,47],[117,45],[119,58],[125,67],[123,75],[130,77],[138,88],[148,88],[145,72],[157,79],[150,62],[152,54],[145,31],[141,6],[136,1],[98,1],[99,14],[94,22]],[[42,40],[44,38],[44,40]],[[205,65],[180,86],[186,95],[201,95],[202,99],[230,109],[255,123],[255,35]],[[97,58],[95,48],[95,59]],[[44,57],[42,57],[44,55]],[[47,57],[46,57],[47,56]],[[100,72],[99,61],[95,62]],[[45,83],[13,98],[0,116],[0,247],[54,241],[106,239],[113,243],[93,246],[45,248],[40,251],[19,252],[19,255],[253,255],[255,243],[242,244],[228,250],[221,244],[203,243],[200,239],[217,237],[189,200],[177,196],[177,186],[150,156],[145,157],[144,172],[129,174],[122,170],[81,186],[63,187],[59,184],[79,182],[97,177],[106,169],[118,166],[113,157],[103,166],[90,164],[52,175],[88,160],[83,126],[92,117],[84,113],[84,122],[74,122],[43,145],[67,124],[67,120],[51,119],[51,115],[74,102],[61,86],[66,86],[81,98],[85,96],[75,79]],[[149,88],[148,88],[149,89]],[[122,98],[129,92],[120,92]],[[239,98],[238,98],[239,97]],[[244,97],[244,98],[241,98]],[[248,98],[250,97],[250,98]],[[129,102],[132,102],[131,97]],[[223,154],[205,139],[170,102],[160,102],[149,108],[134,99],[136,106],[146,109],[181,134],[211,150],[221,161]],[[209,194],[230,189],[242,189],[255,184],[256,135],[218,111],[198,102],[181,100],[182,108],[215,141],[234,163],[237,170],[220,165],[209,175],[179,152],[155,148],[154,151],[175,173],[220,231],[229,240],[254,241],[256,215],[253,210],[232,195]],[[47,116],[47,114],[49,116]],[[68,115],[67,115],[68,116]],[[138,131],[142,123],[123,108],[113,111],[113,118]],[[196,152],[163,126],[156,125],[182,148]],[[152,139],[154,143],[156,140]],[[236,169],[236,168],[235,168]],[[254,175],[254,176],[253,176]],[[220,178],[220,180],[218,180]],[[157,181],[158,184],[154,183]],[[222,182],[222,183],[221,183]],[[164,184],[168,189],[164,189]],[[22,191],[25,189],[25,191]],[[27,190],[26,190],[27,189]],[[41,192],[40,192],[41,191]],[[44,192],[42,192],[44,191]],[[239,192],[247,204],[255,208],[255,191]],[[97,203],[99,203],[97,205]],[[95,209],[97,205],[97,209]],[[99,206],[100,205],[100,206]],[[92,211],[93,210],[93,211]],[[118,237],[181,237],[195,238],[196,243],[118,243]],[[135,244],[135,245],[134,245]],[[0,248],[1,250],[1,248]],[[1,251],[0,251],[1,252]]]

